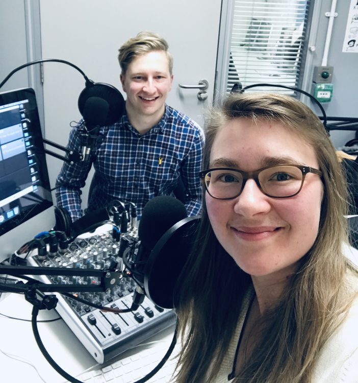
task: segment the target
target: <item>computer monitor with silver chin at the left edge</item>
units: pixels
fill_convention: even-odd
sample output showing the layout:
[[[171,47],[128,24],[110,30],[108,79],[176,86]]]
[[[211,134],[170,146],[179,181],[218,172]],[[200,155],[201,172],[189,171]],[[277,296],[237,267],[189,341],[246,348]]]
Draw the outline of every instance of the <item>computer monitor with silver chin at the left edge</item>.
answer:
[[[0,93],[0,262],[55,226],[35,91]]]

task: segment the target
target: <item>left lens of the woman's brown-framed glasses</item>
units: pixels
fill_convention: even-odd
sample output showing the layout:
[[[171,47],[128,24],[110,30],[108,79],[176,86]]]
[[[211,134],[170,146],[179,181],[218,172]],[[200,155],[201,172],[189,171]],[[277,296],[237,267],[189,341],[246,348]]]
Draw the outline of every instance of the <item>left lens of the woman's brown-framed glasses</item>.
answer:
[[[236,197],[242,187],[242,175],[232,170],[214,170],[206,174],[205,185],[215,198]]]

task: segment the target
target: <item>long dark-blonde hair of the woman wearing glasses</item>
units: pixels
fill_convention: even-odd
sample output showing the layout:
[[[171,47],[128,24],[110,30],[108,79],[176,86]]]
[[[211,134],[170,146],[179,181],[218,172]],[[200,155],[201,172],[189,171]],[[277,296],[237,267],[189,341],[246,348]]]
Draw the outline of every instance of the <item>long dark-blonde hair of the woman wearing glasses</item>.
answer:
[[[303,256],[280,302],[265,316],[262,339],[235,381],[309,382],[319,350],[339,325],[339,315],[349,307],[343,298],[347,269],[356,273],[342,253],[347,241],[344,174],[320,119],[293,97],[273,93],[231,95],[213,109],[207,123],[203,169],[209,167],[217,132],[232,119],[243,117],[283,124],[308,143],[322,171],[324,192],[316,241]],[[178,383],[215,381],[234,336],[242,298],[251,284],[250,276],[219,244],[204,201],[197,245],[180,280],[177,314],[183,348]]]

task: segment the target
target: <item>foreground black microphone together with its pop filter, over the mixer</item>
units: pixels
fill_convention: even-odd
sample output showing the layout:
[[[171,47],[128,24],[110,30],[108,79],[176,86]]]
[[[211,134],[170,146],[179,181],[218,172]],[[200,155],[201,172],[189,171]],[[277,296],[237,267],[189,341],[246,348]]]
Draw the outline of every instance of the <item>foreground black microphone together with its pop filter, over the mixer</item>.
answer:
[[[155,197],[144,206],[138,251],[131,258],[123,255],[123,262],[147,297],[160,307],[175,306],[176,283],[199,221],[198,216],[188,217],[184,204],[173,197]]]

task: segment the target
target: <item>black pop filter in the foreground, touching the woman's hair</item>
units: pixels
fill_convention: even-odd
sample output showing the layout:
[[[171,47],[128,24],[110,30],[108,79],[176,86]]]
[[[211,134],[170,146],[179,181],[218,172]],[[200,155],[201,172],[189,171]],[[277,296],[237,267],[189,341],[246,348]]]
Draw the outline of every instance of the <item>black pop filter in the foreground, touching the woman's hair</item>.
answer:
[[[160,307],[177,303],[177,280],[195,242],[199,216],[187,217],[168,229],[149,254],[144,269],[144,290]]]

